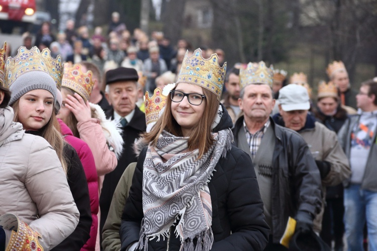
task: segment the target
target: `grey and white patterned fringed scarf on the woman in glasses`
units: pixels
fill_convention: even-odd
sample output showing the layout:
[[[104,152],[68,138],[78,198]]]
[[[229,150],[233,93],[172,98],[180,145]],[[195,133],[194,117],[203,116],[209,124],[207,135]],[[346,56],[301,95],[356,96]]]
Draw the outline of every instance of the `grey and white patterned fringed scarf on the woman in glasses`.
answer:
[[[181,240],[180,250],[211,249],[212,203],[207,183],[233,141],[229,129],[213,137],[215,144],[199,160],[199,150],[191,152],[187,147],[188,137],[175,137],[165,131],[156,147],[148,147],[143,169],[140,249],[148,249],[148,239],[170,236],[173,225]]]

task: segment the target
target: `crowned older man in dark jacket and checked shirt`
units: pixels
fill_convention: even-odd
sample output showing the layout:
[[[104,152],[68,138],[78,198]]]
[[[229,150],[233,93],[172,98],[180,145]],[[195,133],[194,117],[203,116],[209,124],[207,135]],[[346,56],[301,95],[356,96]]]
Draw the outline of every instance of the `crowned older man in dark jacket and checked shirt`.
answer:
[[[321,178],[303,138],[275,124],[270,117],[275,100],[273,68],[263,61],[240,69],[238,99],[243,111],[232,129],[235,145],[253,161],[266,222],[271,228],[267,250],[288,250],[279,243],[289,216],[296,232],[309,232],[320,211]]]

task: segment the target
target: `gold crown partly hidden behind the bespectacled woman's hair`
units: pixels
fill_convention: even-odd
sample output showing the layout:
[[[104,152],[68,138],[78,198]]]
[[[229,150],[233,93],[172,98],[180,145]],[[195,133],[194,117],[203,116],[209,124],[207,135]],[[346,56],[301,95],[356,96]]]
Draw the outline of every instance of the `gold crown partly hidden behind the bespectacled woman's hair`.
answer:
[[[148,91],[145,92],[145,122],[148,124],[156,122],[159,118],[159,113],[166,104],[167,96],[162,94],[161,88],[154,89],[153,96],[149,97]]]

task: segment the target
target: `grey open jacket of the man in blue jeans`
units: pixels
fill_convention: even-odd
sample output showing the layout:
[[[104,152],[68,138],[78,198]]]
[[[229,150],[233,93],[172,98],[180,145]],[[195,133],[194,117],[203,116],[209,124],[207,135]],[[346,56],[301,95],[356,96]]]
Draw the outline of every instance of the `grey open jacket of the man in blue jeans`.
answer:
[[[360,119],[360,114],[351,115],[343,124],[343,127],[338,132],[339,144],[342,146],[344,153],[346,154],[348,160],[351,152],[351,133],[352,129],[358,123]],[[377,118],[376,118],[377,119]],[[377,129],[374,132],[372,142],[376,141]],[[377,177],[377,168],[375,167],[377,163],[377,147],[376,144],[372,144],[370,147],[368,160],[366,162],[364,177],[361,182],[361,189],[367,189],[370,191],[377,192],[377,182],[375,182],[375,177]],[[350,184],[350,180],[345,181],[344,186],[347,187]]]

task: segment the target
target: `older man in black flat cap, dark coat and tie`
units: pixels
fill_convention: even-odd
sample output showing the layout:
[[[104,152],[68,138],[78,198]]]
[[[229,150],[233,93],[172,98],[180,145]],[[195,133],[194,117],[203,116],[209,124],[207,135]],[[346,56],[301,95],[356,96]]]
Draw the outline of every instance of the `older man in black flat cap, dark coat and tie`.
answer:
[[[100,195],[101,223],[100,230],[108,216],[111,199],[118,181],[124,170],[137,157],[133,151],[133,144],[141,133],[146,130],[145,115],[136,106],[138,99],[137,81],[139,76],[132,68],[119,67],[106,72],[106,98],[113,108],[106,112],[107,118],[113,119],[123,128],[123,153],[118,159],[115,170],[105,175]]]

